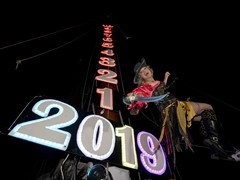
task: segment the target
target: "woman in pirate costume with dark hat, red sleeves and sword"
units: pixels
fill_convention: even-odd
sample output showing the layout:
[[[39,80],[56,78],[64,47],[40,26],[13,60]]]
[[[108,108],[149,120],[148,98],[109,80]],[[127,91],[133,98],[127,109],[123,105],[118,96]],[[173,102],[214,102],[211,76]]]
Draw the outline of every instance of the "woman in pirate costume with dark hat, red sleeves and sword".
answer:
[[[180,101],[170,92],[167,92],[169,72],[165,73],[164,80],[159,81],[153,77],[153,69],[147,65],[144,58],[134,67],[134,83],[138,87],[124,97],[124,103],[128,105],[131,115],[137,115],[141,108],[147,108],[148,102],[154,102],[162,117],[162,128],[158,144],[164,139],[168,154],[173,154],[174,164],[176,151],[182,151],[181,141],[184,140],[186,149],[192,151],[188,128],[192,121],[201,122],[201,134],[203,143],[211,150],[212,158],[230,158],[219,145],[217,118],[213,107],[207,103]]]

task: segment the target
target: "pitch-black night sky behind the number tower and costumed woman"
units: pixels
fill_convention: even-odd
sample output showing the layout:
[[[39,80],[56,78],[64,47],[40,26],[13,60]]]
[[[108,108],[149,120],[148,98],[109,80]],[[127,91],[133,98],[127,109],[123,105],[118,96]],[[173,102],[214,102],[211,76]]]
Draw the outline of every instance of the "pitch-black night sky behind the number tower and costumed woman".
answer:
[[[124,3],[101,4],[102,8],[95,9],[76,4],[2,6],[5,9],[1,12],[0,33],[2,132],[34,96],[86,107],[87,100],[81,99],[85,93],[81,85],[86,77],[91,79],[92,74],[86,71],[89,63],[94,67],[97,62],[96,38],[101,24],[110,23],[114,25],[114,50],[121,69],[120,96],[135,87],[133,67],[144,57],[154,69],[156,79],[162,80],[165,71],[171,73],[170,81],[178,78],[171,91],[179,99],[213,105],[221,125],[223,146],[234,152],[234,148],[240,148],[237,48],[240,39],[234,6],[138,4],[137,8]],[[136,122],[135,118],[132,117],[132,123],[138,128],[152,124]],[[239,163],[211,161],[204,156],[207,154],[204,148],[196,146],[195,150],[196,155],[188,151],[179,155],[179,173],[186,177],[183,179],[193,177],[187,176],[183,166],[195,174],[207,166],[205,172],[210,175],[201,174],[204,178],[215,177],[216,173],[219,177],[238,175],[235,170]],[[211,171],[211,166],[222,171]],[[224,171],[227,167],[232,170]]]

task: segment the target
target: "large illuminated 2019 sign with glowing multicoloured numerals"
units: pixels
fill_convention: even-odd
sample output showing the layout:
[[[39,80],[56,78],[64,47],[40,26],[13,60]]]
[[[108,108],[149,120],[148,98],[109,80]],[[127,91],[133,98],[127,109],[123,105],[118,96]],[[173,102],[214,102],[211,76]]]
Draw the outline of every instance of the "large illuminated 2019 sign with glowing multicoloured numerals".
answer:
[[[85,115],[54,99],[40,99],[29,106],[32,119],[16,124],[9,132],[10,136],[62,151],[74,149],[76,153],[78,149],[80,155],[109,162],[117,161],[114,154],[117,147],[121,147],[121,153],[117,152],[120,161],[114,163],[138,169],[139,159],[141,166],[150,173],[161,175],[166,170],[163,149],[160,145],[154,153],[154,144],[158,140],[148,132],[135,134],[130,126],[116,126],[99,115]],[[76,130],[68,127],[76,127]]]

